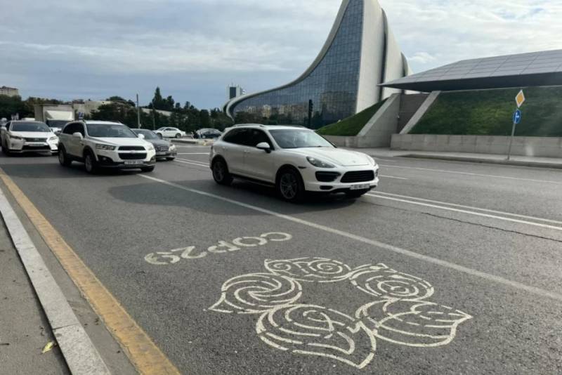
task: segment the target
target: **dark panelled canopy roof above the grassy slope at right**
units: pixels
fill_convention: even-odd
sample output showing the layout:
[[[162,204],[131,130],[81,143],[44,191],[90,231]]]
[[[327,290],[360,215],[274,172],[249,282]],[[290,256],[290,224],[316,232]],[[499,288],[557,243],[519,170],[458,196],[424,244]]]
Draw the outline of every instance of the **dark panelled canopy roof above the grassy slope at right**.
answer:
[[[385,82],[411,91],[562,85],[562,50],[463,60]]]

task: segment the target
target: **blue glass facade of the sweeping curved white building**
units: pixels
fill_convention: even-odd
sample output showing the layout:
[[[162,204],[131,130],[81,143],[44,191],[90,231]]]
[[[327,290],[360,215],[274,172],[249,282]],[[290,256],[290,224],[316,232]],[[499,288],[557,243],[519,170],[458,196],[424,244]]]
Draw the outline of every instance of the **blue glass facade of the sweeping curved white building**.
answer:
[[[318,66],[302,81],[237,103],[238,112],[279,124],[308,125],[312,104],[314,128],[355,114],[359,85],[363,0],[351,0],[332,45]]]

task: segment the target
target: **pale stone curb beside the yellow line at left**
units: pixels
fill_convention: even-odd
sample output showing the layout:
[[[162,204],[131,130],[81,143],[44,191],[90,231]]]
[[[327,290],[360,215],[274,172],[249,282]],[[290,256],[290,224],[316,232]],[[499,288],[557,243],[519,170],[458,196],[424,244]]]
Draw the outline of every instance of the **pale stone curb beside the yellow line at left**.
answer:
[[[0,212],[70,372],[74,375],[110,375],[98,350],[93,346],[20,218],[1,190]]]

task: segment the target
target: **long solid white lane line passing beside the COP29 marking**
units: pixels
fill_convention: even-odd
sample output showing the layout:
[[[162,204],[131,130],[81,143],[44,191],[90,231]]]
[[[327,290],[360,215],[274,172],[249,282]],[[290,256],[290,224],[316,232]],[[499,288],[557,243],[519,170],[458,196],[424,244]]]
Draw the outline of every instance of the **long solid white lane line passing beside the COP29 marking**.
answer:
[[[464,267],[463,265],[458,265],[458,264],[451,263],[451,262],[448,262],[448,261],[443,261],[443,260],[438,259],[438,258],[433,258],[431,256],[426,256],[426,255],[423,255],[423,254],[414,253],[414,251],[401,249],[400,247],[393,246],[393,245],[390,245],[390,244],[385,244],[383,242],[379,242],[379,241],[376,241],[374,239],[368,239],[368,238],[361,237],[361,236],[358,236],[358,235],[353,235],[353,233],[344,232],[343,230],[338,230],[338,229],[335,229],[335,228],[329,228],[325,225],[316,224],[316,223],[313,223],[311,221],[305,221],[305,220],[302,220],[300,218],[295,218],[294,216],[289,216],[289,215],[285,215],[285,214],[282,214],[282,213],[277,213],[275,211],[270,211],[268,209],[263,209],[259,206],[252,206],[251,204],[238,202],[238,201],[235,201],[234,199],[228,199],[228,198],[225,198],[225,197],[221,197],[220,195],[214,195],[214,194],[211,194],[209,192],[204,192],[202,190],[192,189],[190,187],[178,185],[177,183],[171,183],[169,181],[161,180],[159,178],[154,178],[154,177],[141,175],[141,174],[136,175],[136,176],[146,178],[148,180],[152,180],[152,181],[155,181],[157,183],[162,183],[164,185],[168,185],[168,186],[171,186],[171,187],[176,187],[178,189],[185,190],[185,191],[188,191],[188,192],[192,192],[192,193],[195,193],[195,194],[198,194],[198,195],[203,195],[204,197],[210,197],[210,198],[221,200],[222,202],[228,202],[230,204],[235,204],[236,206],[244,207],[246,209],[251,209],[253,211],[266,213],[268,215],[275,216],[277,218],[282,218],[282,219],[287,220],[287,221],[292,221],[293,223],[298,223],[298,224],[306,225],[308,227],[315,228],[315,229],[318,229],[318,230],[323,230],[325,232],[329,232],[329,233],[332,233],[334,235],[340,235],[341,237],[354,239],[355,241],[362,242],[364,244],[370,244],[372,246],[376,246],[376,247],[391,251],[391,252],[396,253],[396,254],[409,256],[410,258],[415,258],[415,259],[419,259],[420,261],[425,261],[427,263],[440,265],[440,266],[445,267],[445,268],[450,268],[452,270],[457,270],[459,272],[466,273],[467,275],[480,277],[481,279],[485,279],[485,280],[492,281],[492,282],[497,282],[499,284],[504,284],[504,285],[507,285],[509,287],[513,287],[513,288],[516,288],[516,289],[528,291],[529,293],[536,294],[537,296],[552,298],[552,299],[555,299],[556,301],[562,302],[562,294],[558,294],[558,293],[555,293],[555,292],[552,292],[552,291],[547,291],[547,290],[540,289],[540,288],[537,288],[537,287],[530,287],[528,285],[521,284],[521,282],[515,282],[515,281],[509,280],[509,279],[505,279],[504,277],[490,275],[489,273],[481,272],[481,271],[478,271],[478,270],[473,270],[472,268]]]

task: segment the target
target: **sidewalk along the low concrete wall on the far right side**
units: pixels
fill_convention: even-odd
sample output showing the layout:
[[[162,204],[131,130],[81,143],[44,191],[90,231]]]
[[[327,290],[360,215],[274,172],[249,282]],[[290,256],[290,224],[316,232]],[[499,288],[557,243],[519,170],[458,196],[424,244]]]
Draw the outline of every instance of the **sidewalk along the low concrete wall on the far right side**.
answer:
[[[351,150],[351,149],[350,149]],[[403,151],[391,150],[390,148],[361,148],[353,149],[355,151],[365,152],[372,157],[410,157],[417,159],[438,159],[453,162],[473,162],[502,164],[513,166],[533,166],[542,168],[562,169],[562,158],[550,157],[523,157],[514,156],[507,160],[506,155],[498,154],[471,154],[466,152],[429,152],[429,151]]]

